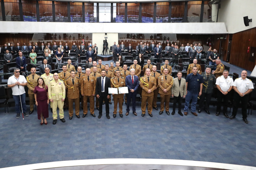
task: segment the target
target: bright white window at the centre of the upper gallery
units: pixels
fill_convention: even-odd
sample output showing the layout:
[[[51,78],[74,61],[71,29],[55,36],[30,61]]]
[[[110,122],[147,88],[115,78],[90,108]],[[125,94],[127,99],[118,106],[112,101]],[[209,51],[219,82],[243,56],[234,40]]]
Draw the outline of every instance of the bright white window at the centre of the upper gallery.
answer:
[[[111,22],[111,3],[99,3],[99,22]]]

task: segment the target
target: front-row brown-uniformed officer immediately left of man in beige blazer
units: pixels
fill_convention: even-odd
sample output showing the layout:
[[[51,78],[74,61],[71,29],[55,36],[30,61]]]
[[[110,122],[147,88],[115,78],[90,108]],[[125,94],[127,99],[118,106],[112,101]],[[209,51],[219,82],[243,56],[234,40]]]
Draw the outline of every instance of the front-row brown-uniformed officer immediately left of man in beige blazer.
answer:
[[[164,111],[164,103],[165,103],[165,111],[166,114],[170,115],[169,112],[169,102],[171,97],[171,87],[173,85],[173,78],[172,76],[168,75],[168,68],[163,69],[163,75],[159,76],[158,79],[158,86],[159,86],[159,94],[161,98],[161,110],[159,114],[163,114]]]

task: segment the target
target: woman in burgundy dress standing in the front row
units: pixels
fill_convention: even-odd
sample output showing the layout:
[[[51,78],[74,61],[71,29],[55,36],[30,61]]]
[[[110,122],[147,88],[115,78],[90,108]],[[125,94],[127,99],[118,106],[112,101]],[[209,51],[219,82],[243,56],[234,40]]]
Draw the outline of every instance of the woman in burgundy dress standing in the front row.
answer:
[[[36,100],[36,106],[37,106],[37,118],[38,120],[41,120],[41,125],[47,124],[46,118],[49,117],[48,112],[48,104],[49,104],[49,98],[48,98],[48,87],[44,83],[43,78],[39,78],[37,80],[37,86],[34,90],[35,94],[35,100]]]

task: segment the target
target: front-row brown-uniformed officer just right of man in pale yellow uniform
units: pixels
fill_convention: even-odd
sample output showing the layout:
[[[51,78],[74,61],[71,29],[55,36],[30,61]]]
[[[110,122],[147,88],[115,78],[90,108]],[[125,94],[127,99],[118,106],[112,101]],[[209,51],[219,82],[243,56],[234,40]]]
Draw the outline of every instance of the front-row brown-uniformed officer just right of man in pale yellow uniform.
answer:
[[[73,103],[75,102],[75,112],[76,116],[79,119],[79,88],[80,88],[80,83],[79,83],[79,77],[75,77],[76,72],[74,70],[71,70],[70,72],[70,77],[66,79],[66,87],[68,91],[68,101],[69,101],[69,120],[72,119],[73,117]]]

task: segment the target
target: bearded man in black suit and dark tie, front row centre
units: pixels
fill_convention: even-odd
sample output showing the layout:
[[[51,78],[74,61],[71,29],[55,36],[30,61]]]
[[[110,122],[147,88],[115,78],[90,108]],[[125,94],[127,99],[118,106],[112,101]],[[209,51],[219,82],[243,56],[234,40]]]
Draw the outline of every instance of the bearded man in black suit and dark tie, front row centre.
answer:
[[[90,50],[90,48],[89,48]],[[101,70],[101,77],[98,77],[96,80],[95,95],[99,99],[99,116],[100,119],[102,116],[102,103],[104,101],[109,101],[109,88],[111,88],[110,78],[106,77],[106,70]],[[105,102],[106,106],[106,117],[110,119],[109,116],[109,103]]]

